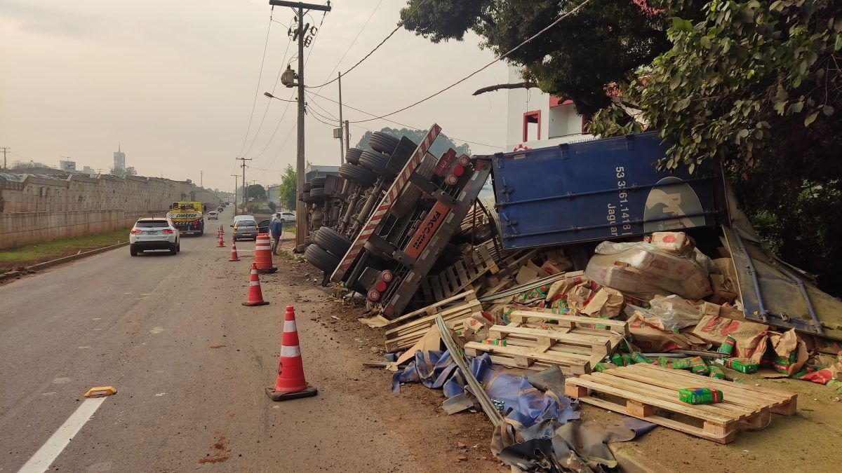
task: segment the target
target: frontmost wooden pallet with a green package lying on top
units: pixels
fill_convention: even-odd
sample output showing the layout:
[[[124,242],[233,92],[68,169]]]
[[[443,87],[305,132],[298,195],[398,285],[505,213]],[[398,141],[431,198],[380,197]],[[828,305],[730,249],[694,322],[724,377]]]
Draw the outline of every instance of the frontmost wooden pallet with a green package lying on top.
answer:
[[[679,401],[679,389],[691,387],[718,389],[724,401],[697,406]],[[791,416],[797,411],[797,394],[791,392],[704,378],[653,364],[633,364],[568,378],[564,391],[579,401],[720,444],[733,442],[740,430],[765,428],[771,422],[772,412]],[[594,396],[596,393],[619,397],[626,404]],[[658,416],[656,407],[687,416],[691,422]],[[697,425],[700,421],[701,427]]]

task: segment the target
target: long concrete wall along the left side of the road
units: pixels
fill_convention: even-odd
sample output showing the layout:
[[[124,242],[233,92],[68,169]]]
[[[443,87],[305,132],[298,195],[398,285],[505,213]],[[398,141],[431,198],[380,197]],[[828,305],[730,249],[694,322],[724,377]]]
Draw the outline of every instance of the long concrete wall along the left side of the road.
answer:
[[[220,201],[192,183],[164,178],[0,173],[0,249],[131,226],[191,195]]]

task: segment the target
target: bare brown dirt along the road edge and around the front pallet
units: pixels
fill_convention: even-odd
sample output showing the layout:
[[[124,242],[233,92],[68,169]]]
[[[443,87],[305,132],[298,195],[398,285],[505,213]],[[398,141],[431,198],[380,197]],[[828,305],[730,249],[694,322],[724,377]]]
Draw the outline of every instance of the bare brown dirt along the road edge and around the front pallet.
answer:
[[[366,327],[356,319],[365,309],[343,303],[335,290],[319,285],[321,273],[309,264],[284,262],[298,266],[298,299],[316,305],[306,316],[336,333],[345,348],[355,352],[349,359],[348,389],[360,396],[377,397],[389,412],[384,421],[401,435],[419,460],[430,471],[509,471],[494,460],[488,449],[492,425],[481,412],[447,416],[441,410],[444,396],[423,385],[403,385],[399,396],[391,394],[392,373],[383,369],[363,368],[363,361],[382,361],[383,329]],[[317,300],[322,302],[318,303]],[[758,375],[742,375],[727,370],[744,383],[756,383],[796,392],[798,412],[792,417],[773,415],[768,428],[738,433],[731,444],[716,444],[669,428],[658,427],[641,438],[616,444],[618,451],[646,465],[653,471],[697,470],[768,471],[775,470],[838,471],[832,452],[838,451],[842,438],[842,402],[833,389],[802,380],[764,380]],[[583,420],[619,424],[621,417],[591,406],[582,406]],[[457,442],[466,444],[460,449]],[[830,455],[829,455],[830,454]]]

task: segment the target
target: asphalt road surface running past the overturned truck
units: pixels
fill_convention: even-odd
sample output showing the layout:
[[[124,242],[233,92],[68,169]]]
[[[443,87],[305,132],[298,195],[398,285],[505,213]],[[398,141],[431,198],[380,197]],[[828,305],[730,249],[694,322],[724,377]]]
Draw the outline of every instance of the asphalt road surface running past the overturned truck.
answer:
[[[51,470],[425,470],[375,400],[342,390],[347,353],[315,319],[298,316],[307,377],[333,383],[265,396],[284,307],[301,295],[279,272],[262,278],[269,306],[242,306],[253,243],[228,262],[230,231],[226,248],[185,237],[176,256],[120,248],[0,285],[0,471],[19,470],[99,385],[118,393]]]

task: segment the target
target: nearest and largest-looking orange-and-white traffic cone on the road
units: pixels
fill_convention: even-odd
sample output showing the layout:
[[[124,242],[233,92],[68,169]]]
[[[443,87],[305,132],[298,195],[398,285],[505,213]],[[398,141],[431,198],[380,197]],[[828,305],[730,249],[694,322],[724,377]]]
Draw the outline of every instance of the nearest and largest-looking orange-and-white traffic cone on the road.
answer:
[[[301,363],[301,349],[298,348],[296,310],[292,306],[286,306],[278,376],[274,380],[274,388],[266,388],[266,394],[272,401],[286,401],[318,394],[317,389],[308,385],[304,379],[304,364]]]

